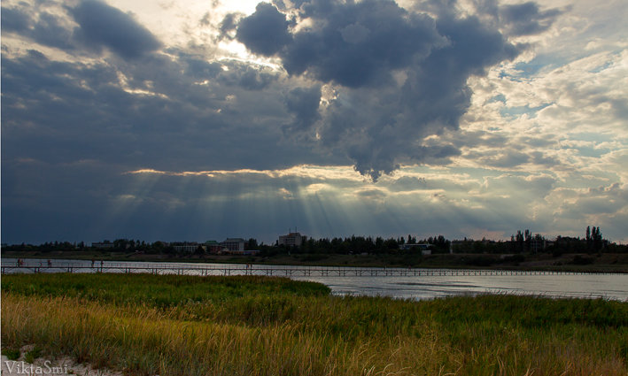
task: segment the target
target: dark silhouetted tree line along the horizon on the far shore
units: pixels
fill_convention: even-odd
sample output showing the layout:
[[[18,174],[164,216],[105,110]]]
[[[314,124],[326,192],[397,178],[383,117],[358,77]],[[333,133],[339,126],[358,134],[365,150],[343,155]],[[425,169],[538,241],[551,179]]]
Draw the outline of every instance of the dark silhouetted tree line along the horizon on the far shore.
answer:
[[[107,251],[143,252],[150,254],[175,254],[174,243],[144,242],[140,240],[117,239],[108,244]],[[304,237],[300,246],[285,247],[275,242],[267,245],[249,238],[244,242],[244,249],[258,249],[261,256],[274,256],[283,253],[302,254],[407,254],[418,252],[416,248],[404,247],[405,244],[427,244],[433,254],[443,253],[489,253],[489,254],[516,254],[516,253],[594,253],[594,252],[628,252],[628,246],[616,244],[604,239],[599,226],[587,226],[585,237],[557,236],[548,240],[541,234],[532,234],[528,229],[518,230],[512,234],[509,241],[494,241],[485,238],[481,240],[464,238],[450,241],[439,234],[423,239],[408,234],[406,236],[384,238],[382,236],[333,237],[314,239]],[[195,253],[205,253],[202,244]],[[3,250],[40,251],[53,250],[97,250],[84,242],[44,242],[40,245],[14,244],[3,245]]]

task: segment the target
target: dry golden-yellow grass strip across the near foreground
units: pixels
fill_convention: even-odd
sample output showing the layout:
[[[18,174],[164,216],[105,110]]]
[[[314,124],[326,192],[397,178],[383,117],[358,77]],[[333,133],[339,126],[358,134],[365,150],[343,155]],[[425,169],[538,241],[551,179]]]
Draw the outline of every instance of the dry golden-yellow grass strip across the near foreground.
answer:
[[[291,325],[254,328],[182,321],[150,308],[138,313],[76,298],[2,295],[4,341],[39,343],[52,353],[133,374],[435,374],[439,368],[425,364],[454,360],[436,342],[436,334],[355,345],[338,337],[298,333]]]

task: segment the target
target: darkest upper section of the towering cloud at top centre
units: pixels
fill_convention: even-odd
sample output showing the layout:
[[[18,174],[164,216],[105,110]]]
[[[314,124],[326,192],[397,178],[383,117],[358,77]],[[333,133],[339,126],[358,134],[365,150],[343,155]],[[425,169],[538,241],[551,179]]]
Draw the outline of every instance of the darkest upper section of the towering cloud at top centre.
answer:
[[[302,9],[301,20],[312,19],[322,27],[291,35],[283,13],[260,3],[238,25],[237,40],[265,56],[278,53],[288,73],[307,72],[351,88],[387,81],[391,70],[446,43],[433,19],[410,14],[392,1],[312,2]]]

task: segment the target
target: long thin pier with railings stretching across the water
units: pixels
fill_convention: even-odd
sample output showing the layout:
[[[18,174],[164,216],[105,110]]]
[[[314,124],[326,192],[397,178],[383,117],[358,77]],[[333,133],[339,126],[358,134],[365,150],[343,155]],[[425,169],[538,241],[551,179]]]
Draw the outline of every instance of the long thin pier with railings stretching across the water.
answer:
[[[277,265],[182,265],[140,263],[17,263],[2,264],[2,273],[15,272],[143,272],[178,275],[267,275],[281,277],[435,277],[435,276],[508,276],[508,275],[561,275],[587,274],[588,272],[551,272],[497,269],[425,269],[343,266],[277,266]]]

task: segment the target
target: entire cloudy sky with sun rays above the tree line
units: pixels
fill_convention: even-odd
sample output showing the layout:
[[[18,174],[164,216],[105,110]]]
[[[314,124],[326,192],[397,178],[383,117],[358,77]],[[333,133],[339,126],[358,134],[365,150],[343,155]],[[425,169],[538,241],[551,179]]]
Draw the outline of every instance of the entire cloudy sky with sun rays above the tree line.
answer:
[[[3,0],[2,242],[628,242],[625,0]]]

